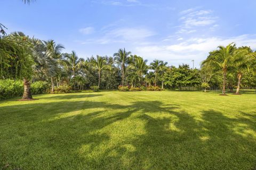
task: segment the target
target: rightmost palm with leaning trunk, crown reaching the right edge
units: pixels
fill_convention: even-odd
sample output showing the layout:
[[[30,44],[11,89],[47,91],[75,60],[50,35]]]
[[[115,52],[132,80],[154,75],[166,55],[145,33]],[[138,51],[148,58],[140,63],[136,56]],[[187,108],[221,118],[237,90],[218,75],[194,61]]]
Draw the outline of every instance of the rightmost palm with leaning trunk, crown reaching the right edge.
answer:
[[[254,63],[253,60],[255,60],[256,53],[250,47],[239,47],[235,54],[234,64],[238,78],[236,94],[239,94],[243,74],[249,70],[255,71],[255,67],[252,64]]]

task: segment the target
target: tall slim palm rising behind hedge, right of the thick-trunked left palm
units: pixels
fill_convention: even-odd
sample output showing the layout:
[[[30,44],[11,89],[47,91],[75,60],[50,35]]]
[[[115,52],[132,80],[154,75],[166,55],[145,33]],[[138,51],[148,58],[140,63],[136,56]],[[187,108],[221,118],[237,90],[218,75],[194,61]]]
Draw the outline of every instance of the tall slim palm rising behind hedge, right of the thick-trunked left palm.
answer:
[[[51,85],[52,85],[52,92],[54,91],[54,82],[53,77],[57,73],[57,60],[61,58],[61,50],[64,48],[60,44],[56,44],[52,39],[49,41],[43,41],[45,47],[46,47],[46,53],[49,56],[49,60],[52,61],[52,64],[54,64],[55,67],[53,67],[54,71],[49,72],[49,75],[51,77]]]

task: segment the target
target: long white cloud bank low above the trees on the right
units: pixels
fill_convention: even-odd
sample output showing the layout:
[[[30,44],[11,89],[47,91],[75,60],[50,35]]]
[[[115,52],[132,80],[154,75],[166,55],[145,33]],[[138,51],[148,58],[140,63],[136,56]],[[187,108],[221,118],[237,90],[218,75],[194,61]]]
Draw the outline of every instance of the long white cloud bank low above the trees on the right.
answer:
[[[256,48],[254,35],[241,35],[230,38],[190,38],[181,43],[171,45],[141,46],[135,48],[135,53],[149,60],[158,58],[168,61],[170,65],[190,63],[191,60],[195,60],[197,67],[199,67],[199,63],[206,59],[210,51],[217,49],[219,45],[226,46],[231,42],[235,42],[237,46],[251,46],[253,49]]]

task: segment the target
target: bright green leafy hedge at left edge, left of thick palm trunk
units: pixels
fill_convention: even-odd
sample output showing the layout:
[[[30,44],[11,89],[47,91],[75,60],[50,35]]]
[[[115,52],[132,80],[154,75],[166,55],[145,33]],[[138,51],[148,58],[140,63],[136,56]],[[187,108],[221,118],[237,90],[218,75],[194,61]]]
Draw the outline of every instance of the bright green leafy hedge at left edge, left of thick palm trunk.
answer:
[[[23,94],[22,80],[0,80],[0,99],[9,99]]]

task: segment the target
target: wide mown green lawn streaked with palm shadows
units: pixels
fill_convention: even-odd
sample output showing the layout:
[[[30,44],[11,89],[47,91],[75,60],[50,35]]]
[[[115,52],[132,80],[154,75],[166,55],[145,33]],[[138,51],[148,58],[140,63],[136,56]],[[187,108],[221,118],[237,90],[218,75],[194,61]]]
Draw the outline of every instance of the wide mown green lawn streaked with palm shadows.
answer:
[[[256,94],[34,98],[0,103],[0,169],[256,168]]]

